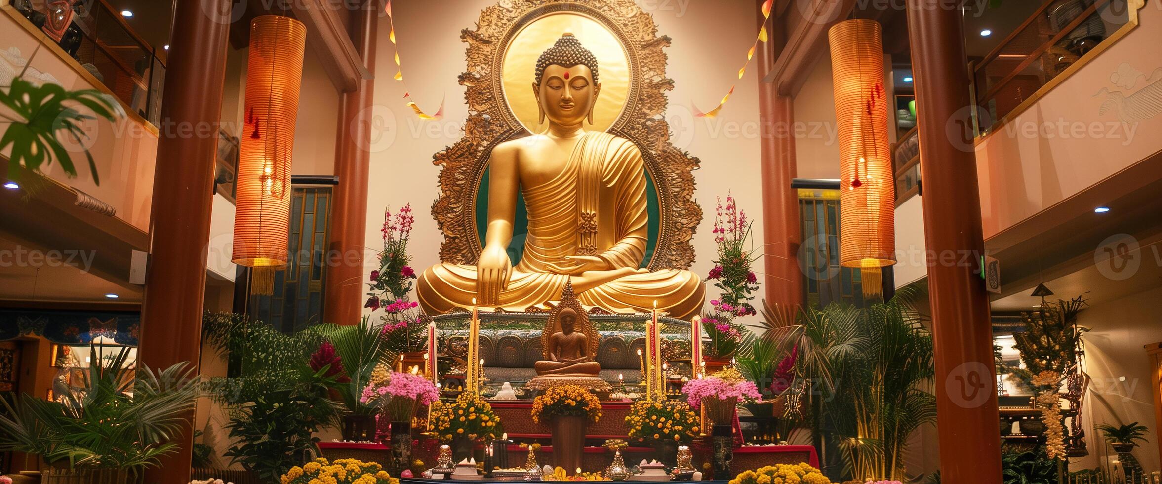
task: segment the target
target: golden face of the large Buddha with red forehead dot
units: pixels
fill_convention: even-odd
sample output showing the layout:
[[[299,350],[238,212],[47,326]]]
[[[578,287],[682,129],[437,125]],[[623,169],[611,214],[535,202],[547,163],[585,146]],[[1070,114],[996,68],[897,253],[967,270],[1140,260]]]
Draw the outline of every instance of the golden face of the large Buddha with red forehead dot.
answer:
[[[545,67],[540,84],[532,86],[540,106],[541,118],[560,126],[578,126],[590,118],[601,92],[601,84],[593,81],[593,71],[586,65]]]

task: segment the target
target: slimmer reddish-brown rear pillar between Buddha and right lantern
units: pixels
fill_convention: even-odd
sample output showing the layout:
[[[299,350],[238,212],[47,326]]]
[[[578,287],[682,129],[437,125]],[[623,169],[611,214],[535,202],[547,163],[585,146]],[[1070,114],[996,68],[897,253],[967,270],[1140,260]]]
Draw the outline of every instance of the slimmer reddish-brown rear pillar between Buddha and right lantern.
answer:
[[[761,1],[759,2],[762,3]],[[762,16],[759,16],[762,21]],[[780,20],[775,20],[777,23]],[[762,175],[762,271],[767,302],[786,307],[803,304],[803,272],[798,265],[802,240],[795,179],[794,99],[763,81],[776,57],[776,42],[760,42],[755,52],[759,76],[759,126]]]

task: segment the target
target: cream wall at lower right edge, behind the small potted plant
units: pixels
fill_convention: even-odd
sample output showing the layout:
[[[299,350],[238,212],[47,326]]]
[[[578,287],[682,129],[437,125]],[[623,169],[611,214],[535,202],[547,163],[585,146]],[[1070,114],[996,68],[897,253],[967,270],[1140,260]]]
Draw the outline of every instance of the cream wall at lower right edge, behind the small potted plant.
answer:
[[[1083,311],[1077,323],[1085,334],[1085,372],[1091,378],[1084,403],[1085,434],[1090,455],[1074,460],[1071,469],[1095,468],[1117,460],[1093,429],[1100,424],[1139,422],[1149,427],[1149,442],[1134,450],[1147,471],[1160,470],[1159,434],[1154,421],[1150,364],[1142,346],[1162,341],[1162,287],[1129,294]],[[1103,464],[1107,465],[1107,464]]]

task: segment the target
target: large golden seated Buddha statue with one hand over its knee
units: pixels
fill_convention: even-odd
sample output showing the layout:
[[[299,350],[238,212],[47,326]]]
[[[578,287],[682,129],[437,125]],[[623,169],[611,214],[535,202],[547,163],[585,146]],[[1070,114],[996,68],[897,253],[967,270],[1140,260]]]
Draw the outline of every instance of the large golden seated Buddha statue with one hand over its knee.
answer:
[[[488,227],[476,265],[429,268],[416,293],[429,314],[481,306],[544,307],[566,284],[581,304],[614,312],[654,307],[687,319],[702,308],[702,280],[686,270],[639,269],[645,257],[645,163],[630,140],[593,124],[601,93],[597,61],[572,34],[540,55],[532,94],[548,129],[496,145],[490,154]],[[524,255],[514,268],[517,191],[528,207]]]

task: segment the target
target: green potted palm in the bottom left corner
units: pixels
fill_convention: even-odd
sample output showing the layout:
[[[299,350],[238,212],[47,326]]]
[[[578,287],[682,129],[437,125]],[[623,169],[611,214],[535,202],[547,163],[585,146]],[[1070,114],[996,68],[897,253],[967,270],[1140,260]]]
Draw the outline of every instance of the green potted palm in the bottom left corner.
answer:
[[[187,425],[200,384],[187,363],[135,371],[122,349],[99,358],[56,400],[22,394],[0,399],[0,450],[40,456],[44,484],[141,482],[145,469],[177,453],[174,436]]]

